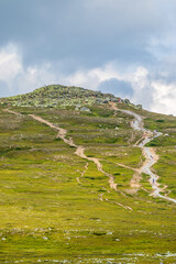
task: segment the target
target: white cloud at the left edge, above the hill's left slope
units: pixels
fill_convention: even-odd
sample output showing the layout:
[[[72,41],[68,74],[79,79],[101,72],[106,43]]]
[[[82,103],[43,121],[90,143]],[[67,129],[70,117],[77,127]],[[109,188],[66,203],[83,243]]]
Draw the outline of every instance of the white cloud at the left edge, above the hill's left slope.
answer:
[[[22,56],[16,45],[8,44],[0,50],[0,80],[6,86],[0,89],[3,95],[23,94],[34,90],[36,87],[56,81],[56,75],[51,64],[24,67]]]

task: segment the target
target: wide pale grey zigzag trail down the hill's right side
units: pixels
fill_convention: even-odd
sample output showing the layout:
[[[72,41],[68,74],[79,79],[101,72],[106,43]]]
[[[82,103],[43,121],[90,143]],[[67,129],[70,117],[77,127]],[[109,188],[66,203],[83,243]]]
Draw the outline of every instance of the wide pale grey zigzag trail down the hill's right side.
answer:
[[[146,129],[144,129],[144,123],[143,123],[143,118],[139,116],[138,113],[134,113],[130,110],[122,110],[118,109],[116,105],[111,103],[111,107],[113,110],[119,110],[121,112],[128,113],[130,116],[134,117],[134,120],[131,122],[131,127],[134,130],[139,130],[143,132],[142,139],[140,139],[136,143],[135,146],[139,146],[142,148],[143,155],[146,158],[145,162],[143,163],[142,167],[139,169],[138,174],[134,174],[133,176],[133,182],[136,184],[135,188],[140,186],[140,179],[141,179],[141,174],[145,173],[150,175],[150,184],[153,188],[153,193],[151,194],[154,197],[158,197],[168,201],[173,201],[176,204],[176,199],[169,198],[168,196],[161,195],[161,191],[164,191],[166,186],[164,188],[160,188],[160,184],[157,183],[157,179],[160,178],[158,175],[154,174],[152,172],[152,166],[158,161],[158,155],[156,155],[155,151],[153,147],[146,147],[145,144],[151,142],[153,139],[162,135],[161,132],[152,132]],[[136,179],[135,179],[136,178]]]

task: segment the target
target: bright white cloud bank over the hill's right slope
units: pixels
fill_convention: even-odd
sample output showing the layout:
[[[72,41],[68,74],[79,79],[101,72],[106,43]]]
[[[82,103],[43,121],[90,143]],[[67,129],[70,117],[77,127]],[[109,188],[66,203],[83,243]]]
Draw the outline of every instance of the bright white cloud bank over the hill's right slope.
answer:
[[[147,110],[155,112],[176,114],[176,84],[168,85],[152,78],[152,73],[145,67],[131,67],[121,73],[113,63],[102,68],[79,70],[65,77],[63,80],[69,85],[81,86],[96,90],[101,81],[116,78],[131,82],[133,96],[130,98],[134,103],[142,103]],[[166,74],[163,75],[164,78]]]

